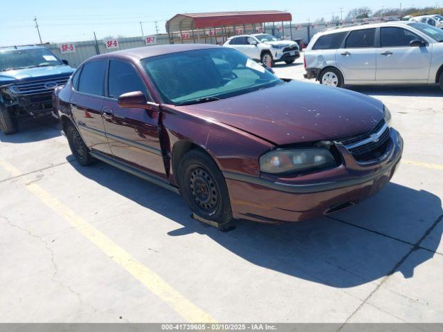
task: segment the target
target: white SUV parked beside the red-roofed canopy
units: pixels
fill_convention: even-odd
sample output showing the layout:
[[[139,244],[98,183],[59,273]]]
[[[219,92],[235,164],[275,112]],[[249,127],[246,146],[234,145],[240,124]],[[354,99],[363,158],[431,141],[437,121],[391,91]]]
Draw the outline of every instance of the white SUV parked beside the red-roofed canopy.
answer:
[[[300,57],[296,42],[279,40],[266,33],[230,37],[223,46],[239,50],[251,59],[259,60],[264,66],[273,66],[275,62],[283,61],[292,64]]]

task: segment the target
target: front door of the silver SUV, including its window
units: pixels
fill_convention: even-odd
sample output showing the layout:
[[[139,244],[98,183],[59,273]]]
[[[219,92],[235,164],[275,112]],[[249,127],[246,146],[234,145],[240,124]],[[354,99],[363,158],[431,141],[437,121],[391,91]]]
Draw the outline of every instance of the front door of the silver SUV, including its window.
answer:
[[[377,82],[427,82],[431,66],[431,46],[410,46],[413,40],[426,42],[410,30],[389,26],[380,28],[377,48]]]

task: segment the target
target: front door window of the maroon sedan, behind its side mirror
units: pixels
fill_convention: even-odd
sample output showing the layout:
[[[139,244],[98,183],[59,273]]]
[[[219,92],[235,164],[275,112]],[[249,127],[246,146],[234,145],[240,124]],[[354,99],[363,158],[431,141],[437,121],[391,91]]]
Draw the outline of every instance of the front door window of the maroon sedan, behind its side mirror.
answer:
[[[125,61],[111,60],[108,78],[109,98],[118,98],[123,93],[142,91],[146,93],[145,84],[136,73],[135,68]]]

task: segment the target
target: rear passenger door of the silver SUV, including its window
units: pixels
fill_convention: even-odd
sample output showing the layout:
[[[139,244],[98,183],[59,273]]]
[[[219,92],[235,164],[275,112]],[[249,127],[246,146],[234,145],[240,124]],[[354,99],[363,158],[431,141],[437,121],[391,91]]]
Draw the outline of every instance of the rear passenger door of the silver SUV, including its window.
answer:
[[[344,48],[336,52],[336,63],[345,82],[374,81],[376,69],[375,28],[352,30]]]

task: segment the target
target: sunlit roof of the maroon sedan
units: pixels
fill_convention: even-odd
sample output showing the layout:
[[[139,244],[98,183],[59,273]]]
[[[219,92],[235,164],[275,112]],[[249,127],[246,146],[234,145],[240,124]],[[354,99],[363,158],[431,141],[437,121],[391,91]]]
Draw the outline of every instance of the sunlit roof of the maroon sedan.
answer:
[[[158,46],[144,46],[138,48],[127,48],[126,50],[116,50],[115,52],[95,55],[90,59],[109,59],[126,58],[126,59],[145,59],[147,57],[156,57],[157,55],[165,55],[170,53],[186,52],[187,50],[204,50],[208,48],[219,48],[218,45],[211,44],[168,44]]]

